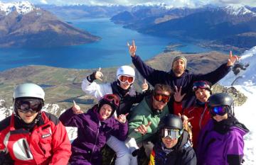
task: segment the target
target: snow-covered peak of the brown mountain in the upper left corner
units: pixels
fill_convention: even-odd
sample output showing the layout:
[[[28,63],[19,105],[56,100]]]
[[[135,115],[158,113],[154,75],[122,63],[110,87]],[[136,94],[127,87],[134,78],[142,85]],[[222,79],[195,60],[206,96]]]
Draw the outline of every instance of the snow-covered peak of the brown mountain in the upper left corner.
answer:
[[[0,11],[4,11],[6,15],[12,11],[17,11],[18,14],[26,14],[35,10],[36,7],[33,6],[29,1],[19,1],[14,3],[2,3],[0,1]]]

